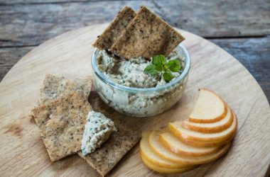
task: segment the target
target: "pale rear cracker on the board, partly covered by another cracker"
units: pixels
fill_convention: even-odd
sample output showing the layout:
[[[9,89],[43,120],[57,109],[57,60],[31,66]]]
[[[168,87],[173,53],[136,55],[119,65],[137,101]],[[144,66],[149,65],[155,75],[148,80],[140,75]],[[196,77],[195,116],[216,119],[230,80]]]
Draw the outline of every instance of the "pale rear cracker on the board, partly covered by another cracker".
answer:
[[[38,101],[39,104],[48,103],[48,101],[63,96],[64,93],[70,91],[77,91],[81,93],[85,98],[88,98],[92,88],[92,80],[87,79],[65,79],[63,76],[54,76],[52,74],[46,74],[41,86],[41,97]]]

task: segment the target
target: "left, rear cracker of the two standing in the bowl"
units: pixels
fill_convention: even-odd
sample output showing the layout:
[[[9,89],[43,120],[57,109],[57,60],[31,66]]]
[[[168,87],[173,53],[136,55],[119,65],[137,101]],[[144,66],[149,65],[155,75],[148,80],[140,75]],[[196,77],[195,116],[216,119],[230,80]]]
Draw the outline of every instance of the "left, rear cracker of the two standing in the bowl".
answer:
[[[136,13],[132,8],[125,6],[119,11],[114,21],[104,30],[102,35],[99,35],[93,46],[99,50],[108,50],[135,16]]]

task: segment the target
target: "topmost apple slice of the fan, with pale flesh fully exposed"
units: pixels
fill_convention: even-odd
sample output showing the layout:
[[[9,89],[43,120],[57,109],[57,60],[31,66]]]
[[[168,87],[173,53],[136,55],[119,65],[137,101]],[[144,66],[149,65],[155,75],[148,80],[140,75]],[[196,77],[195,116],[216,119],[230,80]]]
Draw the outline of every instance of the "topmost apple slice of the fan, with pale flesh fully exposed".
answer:
[[[190,122],[210,123],[225,118],[227,107],[220,96],[207,89],[200,89],[198,101],[188,120]]]

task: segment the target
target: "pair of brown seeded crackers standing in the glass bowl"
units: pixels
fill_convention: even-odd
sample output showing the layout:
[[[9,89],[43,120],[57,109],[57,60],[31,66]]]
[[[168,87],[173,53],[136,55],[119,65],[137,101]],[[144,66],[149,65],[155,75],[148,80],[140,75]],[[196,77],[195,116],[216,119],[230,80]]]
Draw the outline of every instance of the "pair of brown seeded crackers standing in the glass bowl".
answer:
[[[145,6],[138,13],[126,6],[93,46],[126,59],[150,59],[154,55],[169,55],[183,40],[180,33]]]

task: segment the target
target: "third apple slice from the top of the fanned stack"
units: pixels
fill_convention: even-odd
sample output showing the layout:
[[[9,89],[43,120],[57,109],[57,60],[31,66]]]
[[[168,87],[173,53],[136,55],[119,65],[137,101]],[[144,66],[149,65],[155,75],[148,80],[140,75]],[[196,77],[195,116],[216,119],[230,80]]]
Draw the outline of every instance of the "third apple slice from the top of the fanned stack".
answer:
[[[183,142],[205,142],[205,143],[222,143],[230,141],[237,132],[237,117],[234,114],[232,125],[222,132],[217,133],[202,133],[194,132],[183,128],[182,122],[171,122],[168,127],[175,136],[180,138]]]

